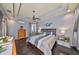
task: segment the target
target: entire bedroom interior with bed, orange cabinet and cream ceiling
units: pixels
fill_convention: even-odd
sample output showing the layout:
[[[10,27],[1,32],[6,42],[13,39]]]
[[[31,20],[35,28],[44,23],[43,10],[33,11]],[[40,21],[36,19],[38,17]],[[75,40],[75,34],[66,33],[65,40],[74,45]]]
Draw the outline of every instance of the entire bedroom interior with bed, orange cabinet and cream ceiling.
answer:
[[[78,19],[78,3],[0,3],[0,55],[78,55]]]

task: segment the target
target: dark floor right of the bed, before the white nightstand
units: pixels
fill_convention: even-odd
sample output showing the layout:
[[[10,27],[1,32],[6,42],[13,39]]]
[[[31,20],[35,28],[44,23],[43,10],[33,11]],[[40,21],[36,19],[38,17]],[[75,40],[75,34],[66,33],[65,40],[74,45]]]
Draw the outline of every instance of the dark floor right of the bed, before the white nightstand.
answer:
[[[56,45],[52,50],[53,55],[79,55],[79,52],[72,48]]]

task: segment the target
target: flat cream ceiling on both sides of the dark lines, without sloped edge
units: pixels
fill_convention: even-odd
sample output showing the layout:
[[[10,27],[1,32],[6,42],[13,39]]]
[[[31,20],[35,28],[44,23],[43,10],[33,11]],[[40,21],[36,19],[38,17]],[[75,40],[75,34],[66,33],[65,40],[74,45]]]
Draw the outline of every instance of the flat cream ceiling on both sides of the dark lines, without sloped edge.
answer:
[[[13,4],[12,3],[2,3],[1,4],[4,8],[4,10],[6,11],[6,13],[10,16],[13,15]],[[19,3],[15,4],[15,16],[17,16],[18,13],[18,9],[19,9]],[[23,3],[21,5],[21,9],[19,12],[19,16],[24,16],[24,17],[31,17],[33,15],[32,11],[35,10],[36,11],[36,15],[39,17],[41,15],[44,15],[45,13],[62,7],[62,6],[66,6],[67,4],[61,4],[61,3]],[[10,10],[11,13],[8,13],[7,10]]]

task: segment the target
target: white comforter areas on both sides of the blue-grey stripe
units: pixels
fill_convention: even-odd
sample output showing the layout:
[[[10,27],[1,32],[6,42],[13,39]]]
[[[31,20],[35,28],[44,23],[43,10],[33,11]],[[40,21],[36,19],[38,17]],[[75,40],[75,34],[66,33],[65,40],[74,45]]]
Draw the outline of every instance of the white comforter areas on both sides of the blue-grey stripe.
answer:
[[[42,34],[42,35],[45,35],[45,34]],[[30,37],[29,42],[35,45],[38,49],[40,49],[45,55],[51,55],[52,54],[51,49],[56,42],[56,38],[53,35],[48,35],[40,39],[38,44],[36,45],[35,40],[42,35]]]

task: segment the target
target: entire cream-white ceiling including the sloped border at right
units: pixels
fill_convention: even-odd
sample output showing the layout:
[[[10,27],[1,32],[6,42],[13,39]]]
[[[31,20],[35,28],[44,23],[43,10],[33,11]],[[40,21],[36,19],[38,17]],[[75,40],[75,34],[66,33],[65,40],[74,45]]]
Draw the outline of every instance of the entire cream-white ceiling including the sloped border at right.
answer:
[[[8,16],[13,16],[13,3],[1,3],[0,6],[4,9]],[[17,16],[20,3],[15,3],[14,6],[14,15]],[[53,17],[64,15],[67,12],[67,9],[71,11],[75,10],[78,4],[75,3],[21,3],[21,8],[18,16],[26,17],[31,19],[33,16],[33,10],[36,11],[36,17],[41,19],[52,19]],[[10,12],[7,12],[10,10]]]

